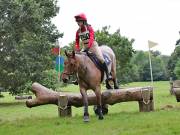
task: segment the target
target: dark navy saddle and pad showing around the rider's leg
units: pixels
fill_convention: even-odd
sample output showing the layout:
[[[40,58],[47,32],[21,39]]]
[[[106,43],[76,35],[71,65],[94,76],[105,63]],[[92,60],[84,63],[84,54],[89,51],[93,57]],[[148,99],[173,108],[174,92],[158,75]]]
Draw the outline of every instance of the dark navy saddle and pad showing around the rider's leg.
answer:
[[[105,71],[103,64],[100,62],[100,60],[96,57],[94,53],[88,52],[87,56],[92,60],[92,62],[96,65],[96,67],[101,71],[101,82],[102,82],[104,78],[104,71]],[[105,63],[109,65],[111,60],[109,59],[108,55],[103,53],[103,57],[104,57]]]

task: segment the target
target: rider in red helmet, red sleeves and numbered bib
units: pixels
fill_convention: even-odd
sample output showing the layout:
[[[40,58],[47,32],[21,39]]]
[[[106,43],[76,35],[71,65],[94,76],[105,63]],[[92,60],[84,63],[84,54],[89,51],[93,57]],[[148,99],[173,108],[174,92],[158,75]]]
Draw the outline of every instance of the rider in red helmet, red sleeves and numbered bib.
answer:
[[[102,52],[97,42],[95,41],[94,30],[91,25],[87,23],[86,15],[84,13],[78,14],[75,16],[75,20],[79,26],[79,29],[76,32],[75,50],[80,51],[79,39],[81,39],[84,49],[83,52],[88,53],[88,51],[91,51],[92,53],[94,53],[104,67],[107,80],[111,80],[112,77],[109,74],[108,67],[105,63]]]

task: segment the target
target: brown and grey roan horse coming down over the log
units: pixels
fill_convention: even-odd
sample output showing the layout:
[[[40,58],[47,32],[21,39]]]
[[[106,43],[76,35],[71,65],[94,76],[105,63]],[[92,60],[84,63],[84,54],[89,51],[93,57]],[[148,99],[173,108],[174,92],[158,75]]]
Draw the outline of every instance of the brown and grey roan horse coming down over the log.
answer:
[[[118,89],[115,54],[113,50],[108,46],[100,46],[100,49],[102,53],[107,54],[108,58],[110,59],[108,68],[109,71],[111,71],[114,88]],[[89,121],[87,97],[87,90],[89,89],[92,89],[96,95],[98,112],[97,114],[99,115],[99,119],[102,120],[104,117],[101,104],[101,71],[85,53],[75,54],[75,51],[72,51],[72,53],[67,53],[67,51],[65,51],[65,55],[67,56],[67,59],[64,62],[62,80],[64,83],[67,83],[71,75],[77,75],[79,89],[84,104],[84,122]],[[112,88],[109,84],[106,84],[106,87]]]

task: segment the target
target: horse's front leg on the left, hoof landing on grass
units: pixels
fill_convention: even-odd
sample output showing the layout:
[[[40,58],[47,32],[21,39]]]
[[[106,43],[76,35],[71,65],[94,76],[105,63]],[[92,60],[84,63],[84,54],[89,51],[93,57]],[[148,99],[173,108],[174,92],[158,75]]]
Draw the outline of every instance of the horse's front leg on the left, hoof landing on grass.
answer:
[[[87,97],[87,92],[84,88],[80,88],[80,92],[82,95],[83,99],[83,104],[84,104],[84,122],[89,122],[89,113],[88,113],[88,97]]]

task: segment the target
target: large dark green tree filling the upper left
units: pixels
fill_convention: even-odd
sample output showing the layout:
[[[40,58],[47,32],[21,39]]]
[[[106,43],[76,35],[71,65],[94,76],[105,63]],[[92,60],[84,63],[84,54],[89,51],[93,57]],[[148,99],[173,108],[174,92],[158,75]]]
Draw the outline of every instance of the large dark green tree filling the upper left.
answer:
[[[0,82],[16,94],[52,68],[50,50],[61,37],[51,18],[56,0],[0,0]]]

